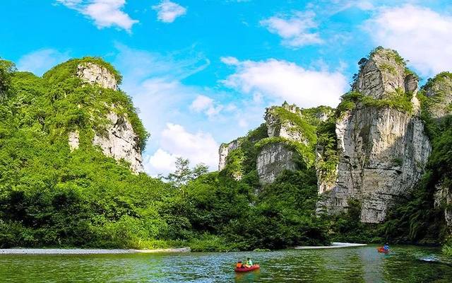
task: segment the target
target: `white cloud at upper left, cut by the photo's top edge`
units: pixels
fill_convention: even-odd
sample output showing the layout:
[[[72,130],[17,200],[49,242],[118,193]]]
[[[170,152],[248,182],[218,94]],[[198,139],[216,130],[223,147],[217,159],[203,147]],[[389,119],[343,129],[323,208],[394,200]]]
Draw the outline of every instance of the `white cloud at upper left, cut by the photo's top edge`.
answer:
[[[72,8],[94,20],[97,28],[116,26],[130,32],[133,20],[122,11],[126,0],[57,0],[68,8]]]

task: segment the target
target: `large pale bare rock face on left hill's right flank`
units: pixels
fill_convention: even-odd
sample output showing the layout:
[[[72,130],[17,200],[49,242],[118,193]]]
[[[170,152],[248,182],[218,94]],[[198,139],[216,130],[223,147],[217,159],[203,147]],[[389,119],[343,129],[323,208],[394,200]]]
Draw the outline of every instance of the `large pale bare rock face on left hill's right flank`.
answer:
[[[143,157],[138,146],[138,136],[126,117],[119,117],[115,112],[107,115],[111,122],[105,134],[95,133],[93,144],[100,146],[106,156],[116,160],[124,159],[131,163],[133,173],[143,172]]]

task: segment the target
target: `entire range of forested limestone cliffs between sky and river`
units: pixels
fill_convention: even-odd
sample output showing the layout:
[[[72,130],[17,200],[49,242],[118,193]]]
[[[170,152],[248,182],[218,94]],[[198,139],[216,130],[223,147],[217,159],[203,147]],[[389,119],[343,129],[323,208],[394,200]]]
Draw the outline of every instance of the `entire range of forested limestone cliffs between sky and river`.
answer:
[[[110,64],[37,77],[0,60],[0,247],[445,243],[452,75],[417,81],[378,47],[338,108],[267,108],[220,146],[218,172],[179,158],[162,181],[143,173],[148,133]]]

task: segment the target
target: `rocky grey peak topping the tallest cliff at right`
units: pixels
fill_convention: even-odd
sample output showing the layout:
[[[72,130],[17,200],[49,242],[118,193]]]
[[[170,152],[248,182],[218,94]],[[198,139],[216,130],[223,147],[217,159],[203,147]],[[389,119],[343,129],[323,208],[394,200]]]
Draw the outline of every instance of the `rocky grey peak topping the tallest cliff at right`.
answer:
[[[417,76],[405,67],[405,62],[395,50],[377,47],[369,59],[359,61],[359,74],[353,91],[372,98],[385,98],[402,90],[417,91]]]

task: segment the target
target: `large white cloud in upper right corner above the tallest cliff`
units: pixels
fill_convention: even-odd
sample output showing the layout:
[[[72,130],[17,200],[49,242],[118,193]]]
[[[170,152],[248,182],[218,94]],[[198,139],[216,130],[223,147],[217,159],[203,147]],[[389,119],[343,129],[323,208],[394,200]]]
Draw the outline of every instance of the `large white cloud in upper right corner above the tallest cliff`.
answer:
[[[398,50],[424,76],[451,70],[452,16],[408,4],[379,9],[364,28],[376,45]]]

